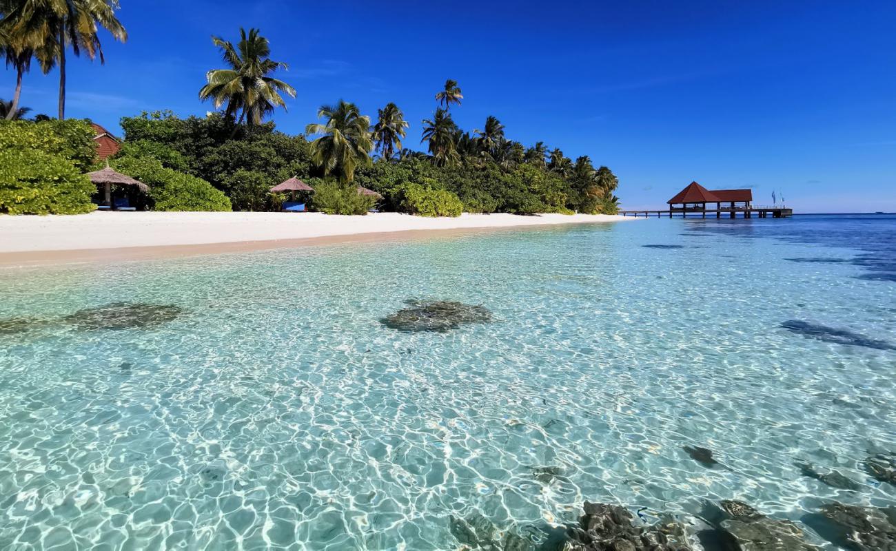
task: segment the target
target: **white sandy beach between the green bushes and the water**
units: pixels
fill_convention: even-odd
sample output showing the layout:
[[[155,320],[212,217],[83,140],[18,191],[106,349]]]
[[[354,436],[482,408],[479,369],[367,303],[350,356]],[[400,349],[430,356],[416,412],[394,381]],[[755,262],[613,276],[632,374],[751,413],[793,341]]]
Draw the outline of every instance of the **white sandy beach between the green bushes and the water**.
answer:
[[[329,245],[484,229],[613,222],[621,216],[463,214],[422,218],[382,212],[92,212],[0,216],[0,266],[148,259],[302,245]]]

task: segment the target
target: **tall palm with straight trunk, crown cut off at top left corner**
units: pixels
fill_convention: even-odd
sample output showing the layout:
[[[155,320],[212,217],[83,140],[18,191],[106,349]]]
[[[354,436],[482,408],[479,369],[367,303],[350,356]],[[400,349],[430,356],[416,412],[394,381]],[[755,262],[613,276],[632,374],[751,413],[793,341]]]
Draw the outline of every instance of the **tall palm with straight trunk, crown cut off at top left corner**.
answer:
[[[127,40],[125,27],[115,16],[118,0],[7,0],[6,4],[7,32],[34,49],[44,72],[59,65],[59,118],[65,118],[65,50],[71,47],[75,56],[83,50],[91,60],[99,56],[105,64],[99,27],[116,40]]]

